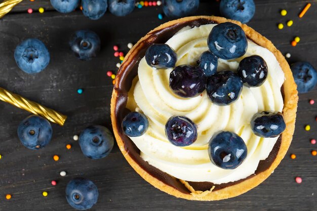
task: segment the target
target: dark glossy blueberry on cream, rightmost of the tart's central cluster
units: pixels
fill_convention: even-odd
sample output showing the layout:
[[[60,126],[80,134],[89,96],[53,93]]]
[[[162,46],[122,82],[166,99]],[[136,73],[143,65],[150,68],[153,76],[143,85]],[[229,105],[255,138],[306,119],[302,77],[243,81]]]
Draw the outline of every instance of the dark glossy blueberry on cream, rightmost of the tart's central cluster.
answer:
[[[246,57],[241,60],[237,74],[247,87],[261,86],[267,77],[267,64],[258,55]]]

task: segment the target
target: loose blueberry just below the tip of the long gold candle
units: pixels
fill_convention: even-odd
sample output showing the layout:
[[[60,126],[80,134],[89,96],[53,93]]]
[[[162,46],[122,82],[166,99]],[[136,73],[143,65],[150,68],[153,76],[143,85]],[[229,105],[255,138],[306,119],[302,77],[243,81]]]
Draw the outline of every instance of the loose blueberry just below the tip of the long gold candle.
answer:
[[[41,116],[31,115],[25,118],[18,127],[21,143],[29,149],[41,149],[52,139],[51,123]]]

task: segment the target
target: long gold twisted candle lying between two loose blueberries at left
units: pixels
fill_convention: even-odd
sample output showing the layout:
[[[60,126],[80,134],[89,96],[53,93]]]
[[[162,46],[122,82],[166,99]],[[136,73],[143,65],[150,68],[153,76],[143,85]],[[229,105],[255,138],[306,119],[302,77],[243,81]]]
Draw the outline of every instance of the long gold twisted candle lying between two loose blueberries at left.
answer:
[[[3,88],[0,87],[0,100],[10,103],[12,105],[17,106],[18,108],[22,108],[27,110],[33,114],[41,115],[51,122],[57,123],[61,126],[64,125],[64,122],[67,116],[58,113],[50,108],[46,108],[38,103],[29,101],[19,95],[13,94]]]

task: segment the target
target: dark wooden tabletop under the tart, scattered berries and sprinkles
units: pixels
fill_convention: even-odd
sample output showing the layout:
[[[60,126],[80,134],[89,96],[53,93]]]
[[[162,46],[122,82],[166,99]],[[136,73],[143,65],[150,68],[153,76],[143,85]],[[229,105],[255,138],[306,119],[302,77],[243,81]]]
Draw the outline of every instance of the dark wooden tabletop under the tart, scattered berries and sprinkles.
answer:
[[[251,27],[272,40],[283,54],[291,53],[289,62],[309,61],[317,68],[317,2],[259,0]],[[302,18],[298,13],[307,2],[312,7]],[[44,7],[45,12],[37,12]],[[33,9],[32,14],[26,11]],[[219,15],[219,3],[201,1],[197,15]],[[287,16],[280,15],[286,9]],[[29,113],[0,102],[0,210],[73,210],[65,199],[65,186],[73,177],[86,177],[95,182],[99,199],[91,210],[317,210],[317,156],[310,151],[317,144],[317,89],[299,96],[296,130],[289,153],[275,172],[261,185],[235,198],[213,202],[187,201],[170,196],[145,182],[127,163],[117,146],[112,153],[100,160],[84,157],[73,135],[90,124],[111,128],[110,97],[112,79],[108,70],[116,71],[118,58],[113,56],[113,45],[127,53],[127,44],[135,43],[150,29],[168,21],[159,20],[161,7],[136,9],[127,17],[115,17],[109,12],[98,21],[85,18],[81,11],[60,14],[49,1],[23,1],[3,19],[0,19],[0,87],[16,92],[68,115],[64,127],[53,125],[53,140],[44,149],[33,151],[25,148],[17,137],[19,122]],[[293,20],[292,27],[286,26]],[[279,30],[276,25],[285,27]],[[102,42],[97,58],[83,62],[69,50],[68,38],[78,29],[96,31]],[[294,36],[301,38],[296,47],[290,45]],[[15,47],[26,38],[44,41],[51,53],[51,62],[45,71],[35,75],[22,72],[14,61]],[[84,89],[82,95],[77,89]],[[304,125],[310,124],[309,132]],[[66,144],[72,144],[67,150]],[[296,154],[292,160],[290,154]],[[59,161],[53,155],[60,156]],[[60,171],[67,176],[61,177]],[[297,184],[295,177],[303,179]],[[56,180],[56,186],[51,181]],[[47,191],[47,197],[42,192]],[[6,194],[12,194],[6,200]]]

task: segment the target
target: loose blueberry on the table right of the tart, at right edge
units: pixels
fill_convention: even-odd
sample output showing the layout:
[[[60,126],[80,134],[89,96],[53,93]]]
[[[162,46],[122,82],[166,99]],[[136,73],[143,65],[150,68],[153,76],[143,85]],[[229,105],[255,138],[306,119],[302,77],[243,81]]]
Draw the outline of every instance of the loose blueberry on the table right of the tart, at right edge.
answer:
[[[306,93],[312,90],[317,82],[317,72],[308,62],[296,62],[291,66],[297,91]]]

